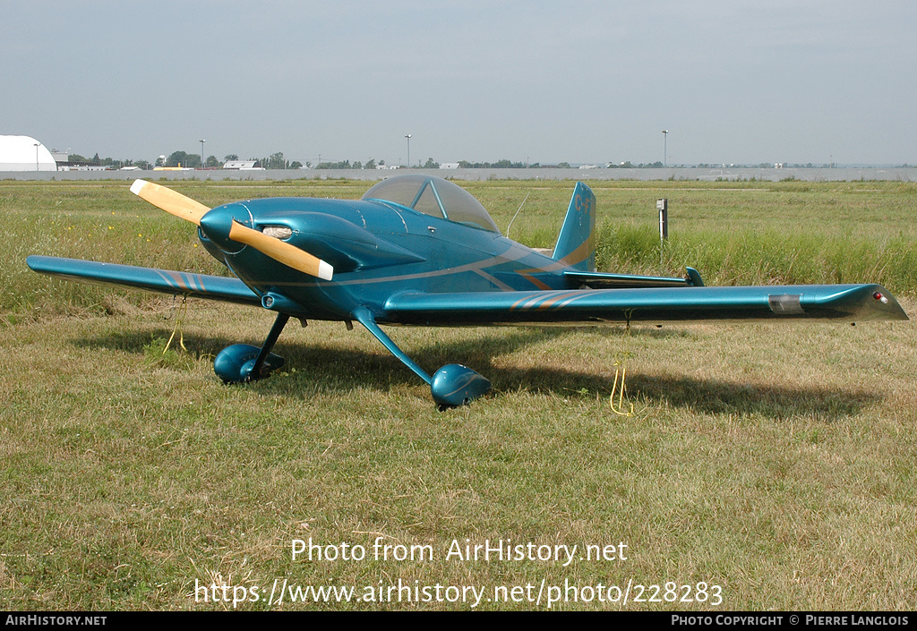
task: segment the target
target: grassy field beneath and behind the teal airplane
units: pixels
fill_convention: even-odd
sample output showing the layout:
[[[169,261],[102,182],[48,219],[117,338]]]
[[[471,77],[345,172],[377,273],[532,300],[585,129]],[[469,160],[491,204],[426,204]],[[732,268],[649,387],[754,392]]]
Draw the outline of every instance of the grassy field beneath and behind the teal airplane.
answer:
[[[909,185],[591,185],[604,270],[674,274],[687,263],[708,282],[880,281],[914,313],[917,283],[906,266],[894,271],[894,259],[913,256]],[[174,187],[216,205],[359,197],[368,186]],[[550,247],[572,184],[467,187],[503,229],[528,194],[510,236]],[[672,217],[661,264],[657,197],[668,197]],[[171,299],[25,268],[39,253],[217,272],[187,224],[124,183],[0,183],[0,208],[6,608],[232,609],[238,589],[229,603],[195,592],[214,582],[245,588],[239,609],[471,606],[409,603],[406,592],[400,603],[269,604],[275,580],[354,586],[361,597],[383,588],[387,601],[399,581],[438,584],[430,593],[444,598],[457,593],[446,586],[475,586],[481,609],[545,609],[551,593],[557,609],[711,610],[713,585],[724,610],[913,607],[911,323],[390,329],[427,370],[457,362],[492,380],[491,396],[438,413],[428,388],[366,331],[312,322],[289,326],[278,343],[286,371],[227,387],[213,356],[260,344],[270,314],[194,301],[182,317],[188,351],[173,342],[163,353],[182,315]],[[794,255],[806,243],[815,245]],[[834,248],[867,260],[844,267],[856,257],[833,261]],[[689,255],[724,267],[679,260]],[[796,262],[787,270],[783,260]],[[630,416],[610,406],[621,362]],[[293,560],[293,540],[310,537],[363,546],[367,557]],[[433,558],[392,559],[391,548],[374,559],[377,537],[418,554],[430,546]],[[500,539],[580,548],[566,567],[447,559],[453,540]],[[584,546],[622,542],[626,560],[580,559]],[[634,602],[633,588],[626,604],[607,602],[610,586],[629,582],[662,586],[661,602]],[[683,585],[692,587],[686,602]],[[494,602],[501,587],[522,588],[519,601]],[[250,602],[255,588],[260,600]]]

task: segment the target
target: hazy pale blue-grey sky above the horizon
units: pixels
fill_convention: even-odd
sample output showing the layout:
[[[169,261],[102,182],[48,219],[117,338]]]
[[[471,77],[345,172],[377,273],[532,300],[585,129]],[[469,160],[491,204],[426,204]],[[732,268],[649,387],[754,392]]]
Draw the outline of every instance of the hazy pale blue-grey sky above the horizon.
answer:
[[[86,156],[917,163],[913,0],[0,7],[0,134]]]

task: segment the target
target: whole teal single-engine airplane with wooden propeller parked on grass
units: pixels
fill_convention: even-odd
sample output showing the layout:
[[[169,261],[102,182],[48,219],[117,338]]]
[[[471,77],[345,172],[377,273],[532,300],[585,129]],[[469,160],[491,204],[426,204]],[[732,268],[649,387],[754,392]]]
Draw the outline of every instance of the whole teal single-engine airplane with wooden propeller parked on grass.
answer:
[[[260,348],[236,344],[216,356],[225,382],[282,366],[271,349],[290,317],[348,328],[356,320],[430,385],[441,409],[488,393],[491,382],[458,364],[429,375],[380,325],[908,319],[877,284],[705,287],[691,268],[684,278],[598,272],[595,195],[584,183],[576,184],[551,255],[503,237],[471,194],[422,174],[383,180],[359,201],[268,198],[211,209],[156,183],[138,180],[130,190],[197,225],[204,248],[236,278],[44,256],[28,257],[28,266],[276,312]]]

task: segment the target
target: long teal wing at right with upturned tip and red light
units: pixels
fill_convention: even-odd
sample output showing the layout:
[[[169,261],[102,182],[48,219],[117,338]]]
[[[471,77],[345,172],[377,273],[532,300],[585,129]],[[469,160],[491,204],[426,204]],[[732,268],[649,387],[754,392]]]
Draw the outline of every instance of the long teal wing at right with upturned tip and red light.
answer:
[[[908,319],[898,301],[877,284],[405,292],[392,295],[385,306],[385,319],[393,324],[434,326]]]

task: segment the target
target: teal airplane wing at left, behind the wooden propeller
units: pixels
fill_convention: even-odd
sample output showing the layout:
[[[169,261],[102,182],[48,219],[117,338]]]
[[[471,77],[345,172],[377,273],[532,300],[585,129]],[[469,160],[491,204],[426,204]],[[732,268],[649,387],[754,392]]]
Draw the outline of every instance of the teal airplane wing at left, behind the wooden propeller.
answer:
[[[238,278],[45,256],[30,256],[26,263],[33,271],[49,276],[61,276],[72,281],[123,285],[150,292],[194,296],[228,303],[261,304],[260,296]]]

